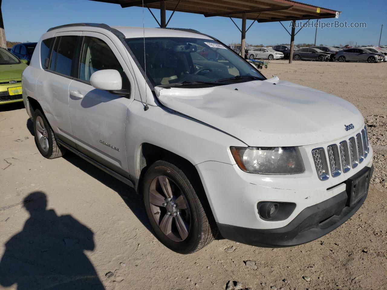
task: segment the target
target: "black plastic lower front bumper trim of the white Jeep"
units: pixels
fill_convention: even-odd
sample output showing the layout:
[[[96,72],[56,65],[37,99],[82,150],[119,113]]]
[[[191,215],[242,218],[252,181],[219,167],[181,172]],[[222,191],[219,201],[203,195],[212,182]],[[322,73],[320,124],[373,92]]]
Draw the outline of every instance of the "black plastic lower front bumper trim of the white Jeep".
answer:
[[[365,167],[356,176],[368,170],[369,167]],[[371,179],[373,166],[369,172],[368,180]],[[305,208],[288,225],[278,229],[250,229],[221,223],[217,223],[217,227],[224,238],[243,244],[259,247],[296,246],[318,239],[342,225],[361,207],[367,194],[352,206],[347,206],[348,194],[343,191]]]

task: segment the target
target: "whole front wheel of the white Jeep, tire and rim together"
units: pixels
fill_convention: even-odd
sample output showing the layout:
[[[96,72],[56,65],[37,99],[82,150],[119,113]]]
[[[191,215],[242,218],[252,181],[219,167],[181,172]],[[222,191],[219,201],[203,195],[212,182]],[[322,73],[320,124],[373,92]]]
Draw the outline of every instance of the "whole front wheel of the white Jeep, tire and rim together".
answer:
[[[218,230],[204,190],[185,164],[156,161],[143,180],[146,213],[164,246],[180,254],[190,254],[214,240]]]

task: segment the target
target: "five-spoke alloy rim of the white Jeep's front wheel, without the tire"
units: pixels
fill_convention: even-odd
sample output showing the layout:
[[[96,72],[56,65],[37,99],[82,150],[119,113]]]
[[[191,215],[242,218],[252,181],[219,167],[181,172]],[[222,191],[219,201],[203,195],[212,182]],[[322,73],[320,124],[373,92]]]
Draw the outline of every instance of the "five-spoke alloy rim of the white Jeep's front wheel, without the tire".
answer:
[[[167,176],[157,176],[149,188],[149,205],[160,230],[173,241],[184,241],[190,231],[191,215],[187,199]]]

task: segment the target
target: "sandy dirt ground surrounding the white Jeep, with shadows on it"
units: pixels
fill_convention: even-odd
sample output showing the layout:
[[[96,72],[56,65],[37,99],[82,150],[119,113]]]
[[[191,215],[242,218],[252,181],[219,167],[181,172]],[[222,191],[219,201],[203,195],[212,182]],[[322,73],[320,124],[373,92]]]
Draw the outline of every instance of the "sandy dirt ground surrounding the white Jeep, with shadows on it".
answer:
[[[316,241],[279,249],[218,237],[191,255],[171,252],[152,235],[130,188],[70,152],[44,159],[22,104],[0,107],[0,289],[74,289],[79,279],[83,289],[109,290],[224,290],[228,281],[254,290],[386,289],[386,69],[280,60],[262,70],[353,102],[376,158],[377,179],[351,219]],[[25,198],[38,200],[35,208]],[[230,246],[235,251],[225,252]]]

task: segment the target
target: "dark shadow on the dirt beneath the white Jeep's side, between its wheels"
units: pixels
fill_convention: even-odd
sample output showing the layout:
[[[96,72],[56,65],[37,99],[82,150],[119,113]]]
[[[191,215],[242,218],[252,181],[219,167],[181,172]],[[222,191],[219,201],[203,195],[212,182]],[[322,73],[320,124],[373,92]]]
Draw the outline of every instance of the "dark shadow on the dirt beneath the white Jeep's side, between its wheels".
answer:
[[[146,227],[150,232],[152,232],[151,225],[149,224],[148,217],[145,212],[144,203],[141,196],[135,192],[135,190],[126,184],[118,181],[113,176],[107,174],[106,172],[98,169],[94,165],[90,164],[86,160],[80,158],[74,153],[67,151],[63,156],[68,162],[78,167],[80,170],[86,172],[91,177],[97,179],[104,185],[113,189],[118,193],[128,208],[135,214],[139,221]],[[152,232],[153,234],[153,232]]]

